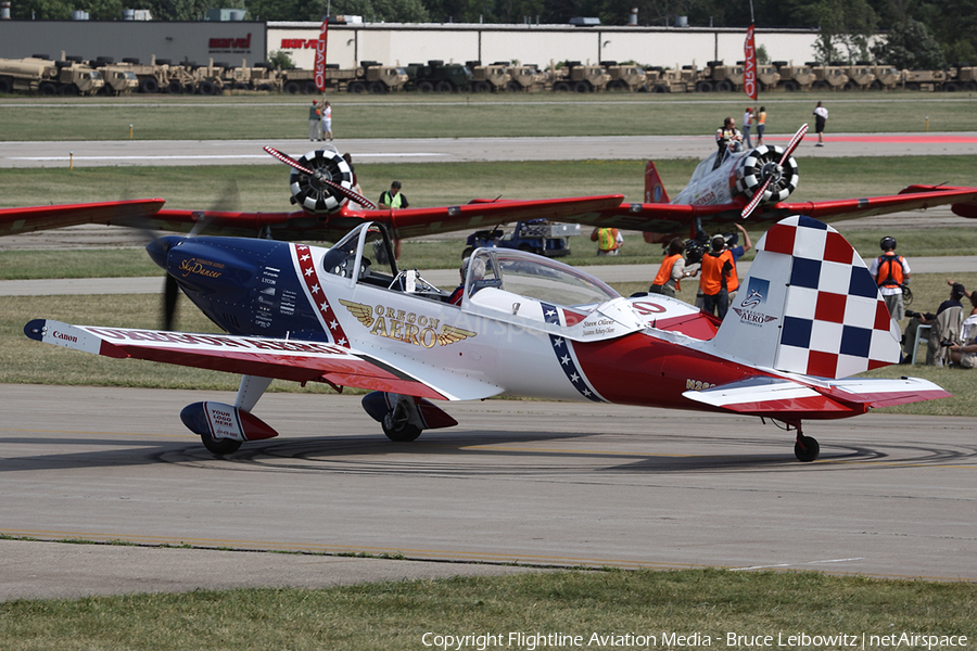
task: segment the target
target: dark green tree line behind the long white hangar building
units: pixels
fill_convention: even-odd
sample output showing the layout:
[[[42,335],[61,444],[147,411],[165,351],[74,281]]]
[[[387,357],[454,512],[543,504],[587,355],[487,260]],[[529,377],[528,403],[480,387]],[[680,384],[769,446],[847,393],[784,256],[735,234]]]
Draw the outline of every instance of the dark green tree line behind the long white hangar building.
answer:
[[[632,8],[639,25],[819,29],[822,62],[878,61],[909,69],[935,69],[959,62],[977,65],[977,0],[224,0],[254,21],[321,21],[360,15],[386,23],[567,23],[596,16],[624,25]],[[147,9],[156,21],[199,21],[213,0],[18,0],[16,20],[67,20],[84,10],[91,20],[118,20],[122,10]],[[752,12],[752,16],[751,16]],[[874,48],[870,37],[883,34]],[[762,34],[758,38],[762,44]],[[638,62],[651,63],[651,62]]]

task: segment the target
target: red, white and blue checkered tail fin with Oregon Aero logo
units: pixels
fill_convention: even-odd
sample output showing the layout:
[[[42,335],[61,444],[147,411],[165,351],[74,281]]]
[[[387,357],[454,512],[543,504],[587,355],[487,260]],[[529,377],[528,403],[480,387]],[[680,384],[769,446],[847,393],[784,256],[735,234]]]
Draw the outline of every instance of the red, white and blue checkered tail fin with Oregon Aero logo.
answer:
[[[851,244],[816,219],[794,216],[757,243],[712,344],[754,366],[838,379],[898,362],[900,336]]]

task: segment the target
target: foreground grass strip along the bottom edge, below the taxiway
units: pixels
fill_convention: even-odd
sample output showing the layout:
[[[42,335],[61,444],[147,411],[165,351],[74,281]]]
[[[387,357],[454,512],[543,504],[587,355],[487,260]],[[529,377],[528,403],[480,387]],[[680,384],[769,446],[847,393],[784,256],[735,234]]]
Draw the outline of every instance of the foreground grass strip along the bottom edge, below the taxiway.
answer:
[[[814,573],[551,572],[502,578],[410,580],[321,590],[198,590],[0,604],[4,651],[289,649],[897,648],[883,636],[977,637],[977,586],[832,577]],[[728,635],[733,634],[733,638]],[[427,638],[426,634],[431,634]],[[493,634],[502,637],[474,636]],[[510,634],[523,634],[523,638]],[[434,636],[441,636],[435,638]],[[538,644],[542,636],[564,643]],[[600,636],[595,638],[594,636]],[[624,636],[642,636],[626,643]],[[808,636],[808,643],[800,636]],[[444,636],[461,638],[445,643]],[[581,636],[580,641],[573,640]],[[611,636],[611,637],[609,637]],[[614,642],[613,636],[620,636]],[[647,636],[655,636],[654,643]],[[745,637],[738,637],[745,636]],[[791,640],[790,636],[797,636]],[[812,643],[836,636],[835,643]],[[874,636],[874,637],[873,637]],[[601,639],[602,638],[602,639]],[[435,639],[440,640],[435,642]],[[906,638],[911,639],[911,638]],[[550,638],[550,641],[555,641]],[[671,643],[669,643],[671,641]],[[927,637],[928,641],[928,637]],[[458,646],[458,642],[461,642]],[[567,643],[569,642],[569,643]],[[437,644],[437,646],[435,646]],[[903,647],[906,644],[903,643]],[[925,648],[914,646],[910,648]]]

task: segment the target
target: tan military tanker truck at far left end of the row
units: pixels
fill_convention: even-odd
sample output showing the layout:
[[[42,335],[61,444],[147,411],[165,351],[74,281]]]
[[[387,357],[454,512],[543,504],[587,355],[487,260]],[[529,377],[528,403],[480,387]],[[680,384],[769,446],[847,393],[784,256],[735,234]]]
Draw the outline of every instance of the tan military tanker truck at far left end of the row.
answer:
[[[103,85],[98,71],[78,61],[51,61],[37,55],[0,59],[0,93],[26,90],[46,97],[69,97],[94,94]]]

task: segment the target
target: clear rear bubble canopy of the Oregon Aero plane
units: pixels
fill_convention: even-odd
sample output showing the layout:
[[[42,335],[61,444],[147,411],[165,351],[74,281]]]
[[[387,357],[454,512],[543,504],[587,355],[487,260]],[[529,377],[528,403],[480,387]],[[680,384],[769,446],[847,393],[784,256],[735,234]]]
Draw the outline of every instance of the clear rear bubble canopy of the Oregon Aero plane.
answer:
[[[560,306],[596,306],[620,297],[610,285],[563,263],[509,248],[472,254],[465,292],[478,303],[480,290],[494,288]]]

